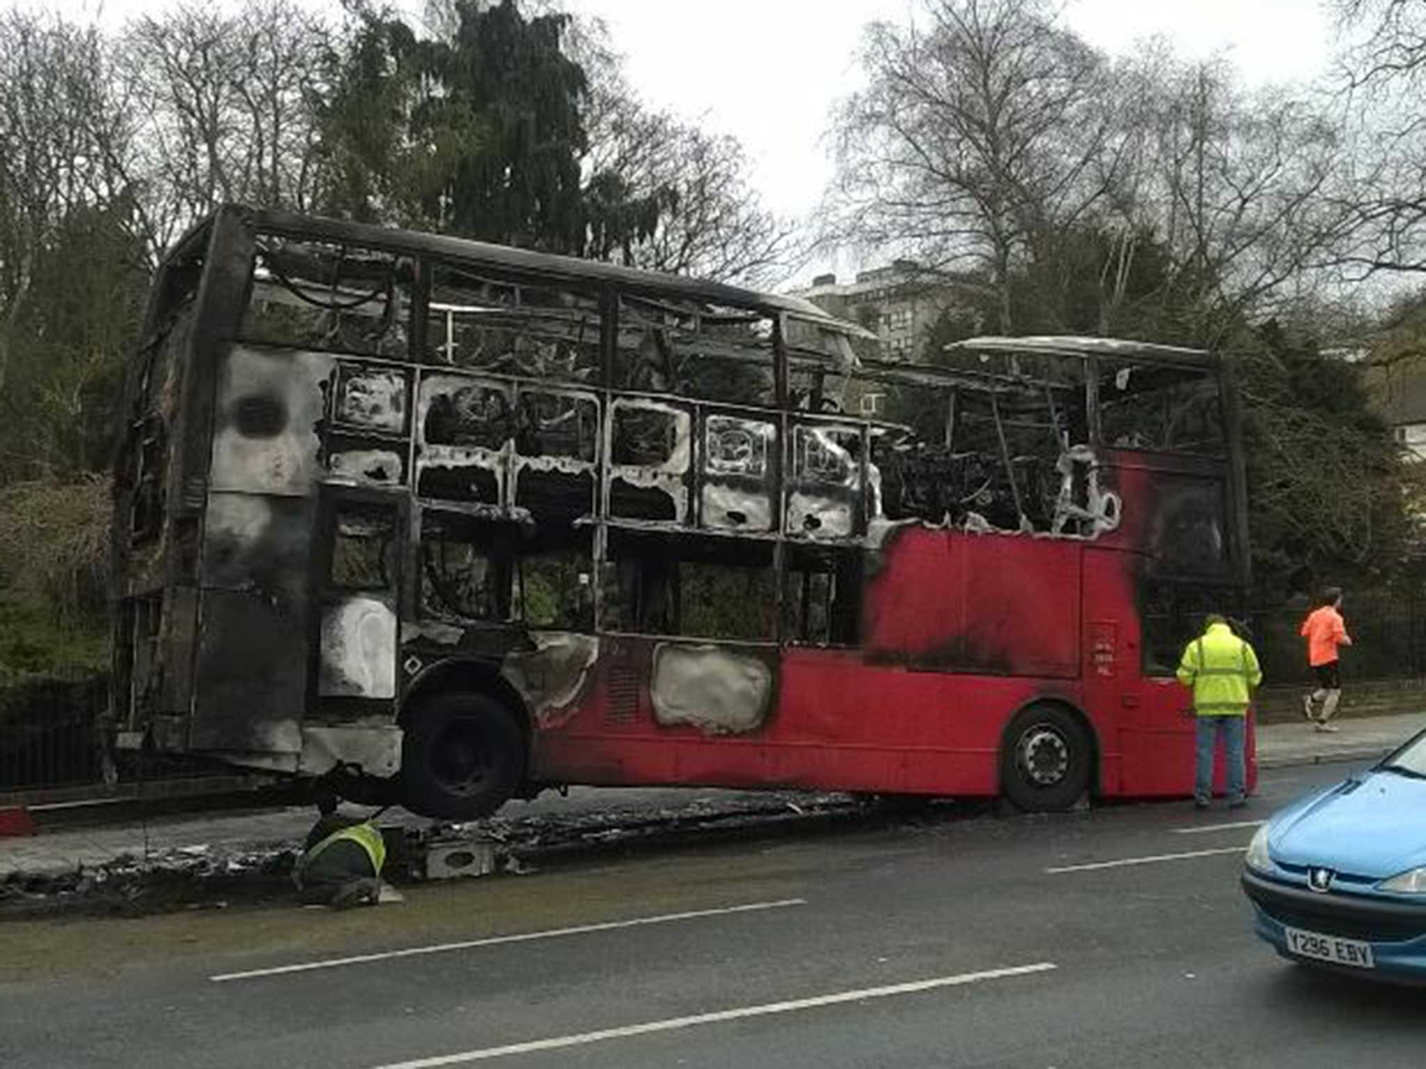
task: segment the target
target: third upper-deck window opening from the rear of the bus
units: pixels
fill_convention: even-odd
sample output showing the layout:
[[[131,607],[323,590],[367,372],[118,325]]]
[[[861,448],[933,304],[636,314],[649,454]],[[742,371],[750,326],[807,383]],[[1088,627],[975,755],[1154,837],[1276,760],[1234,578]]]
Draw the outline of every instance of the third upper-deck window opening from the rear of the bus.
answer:
[[[774,322],[696,301],[620,296],[613,386],[773,408]]]

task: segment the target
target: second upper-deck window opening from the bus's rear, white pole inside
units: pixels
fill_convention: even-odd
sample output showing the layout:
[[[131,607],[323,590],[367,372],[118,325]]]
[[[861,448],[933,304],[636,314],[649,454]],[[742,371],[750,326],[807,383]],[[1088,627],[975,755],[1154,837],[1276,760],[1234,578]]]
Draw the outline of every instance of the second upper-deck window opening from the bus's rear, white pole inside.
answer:
[[[441,264],[432,274],[431,362],[546,382],[597,382],[597,295]]]

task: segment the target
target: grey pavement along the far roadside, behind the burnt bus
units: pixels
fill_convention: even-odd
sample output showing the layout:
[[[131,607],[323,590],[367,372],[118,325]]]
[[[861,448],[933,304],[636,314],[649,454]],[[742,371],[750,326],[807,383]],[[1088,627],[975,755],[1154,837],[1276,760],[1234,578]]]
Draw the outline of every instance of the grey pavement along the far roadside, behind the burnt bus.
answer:
[[[1336,734],[1315,731],[1306,723],[1259,724],[1259,768],[1282,768],[1378,757],[1416,731],[1426,728],[1426,713],[1342,720]],[[793,804],[780,792],[771,808]],[[511,821],[562,820],[599,815],[606,827],[650,814],[689,815],[709,811],[769,808],[769,795],[756,791],[690,788],[570,788],[532,802],[509,802],[501,815]],[[19,875],[53,877],[113,864],[121,858],[150,858],[188,852],[252,855],[279,844],[301,841],[312,825],[309,807],[237,811],[222,815],[164,817],[141,824],[53,831],[29,838],[0,838],[0,881]],[[425,825],[416,817],[392,810],[386,824]]]

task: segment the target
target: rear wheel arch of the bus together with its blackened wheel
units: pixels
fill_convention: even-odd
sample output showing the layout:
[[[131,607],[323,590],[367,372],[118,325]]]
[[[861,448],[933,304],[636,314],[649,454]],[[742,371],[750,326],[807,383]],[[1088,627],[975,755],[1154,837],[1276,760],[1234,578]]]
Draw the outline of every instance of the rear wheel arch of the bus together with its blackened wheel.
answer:
[[[422,817],[475,820],[519,792],[529,768],[523,701],[493,666],[435,666],[401,713],[402,801]]]

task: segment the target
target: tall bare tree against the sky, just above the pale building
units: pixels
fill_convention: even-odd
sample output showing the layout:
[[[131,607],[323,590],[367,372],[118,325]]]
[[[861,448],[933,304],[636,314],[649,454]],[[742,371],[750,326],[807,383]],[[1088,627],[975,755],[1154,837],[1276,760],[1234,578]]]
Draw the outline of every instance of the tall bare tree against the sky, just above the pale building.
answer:
[[[927,0],[924,29],[867,29],[870,86],[836,117],[824,234],[1010,278],[1108,192],[1111,71],[1042,0]]]

